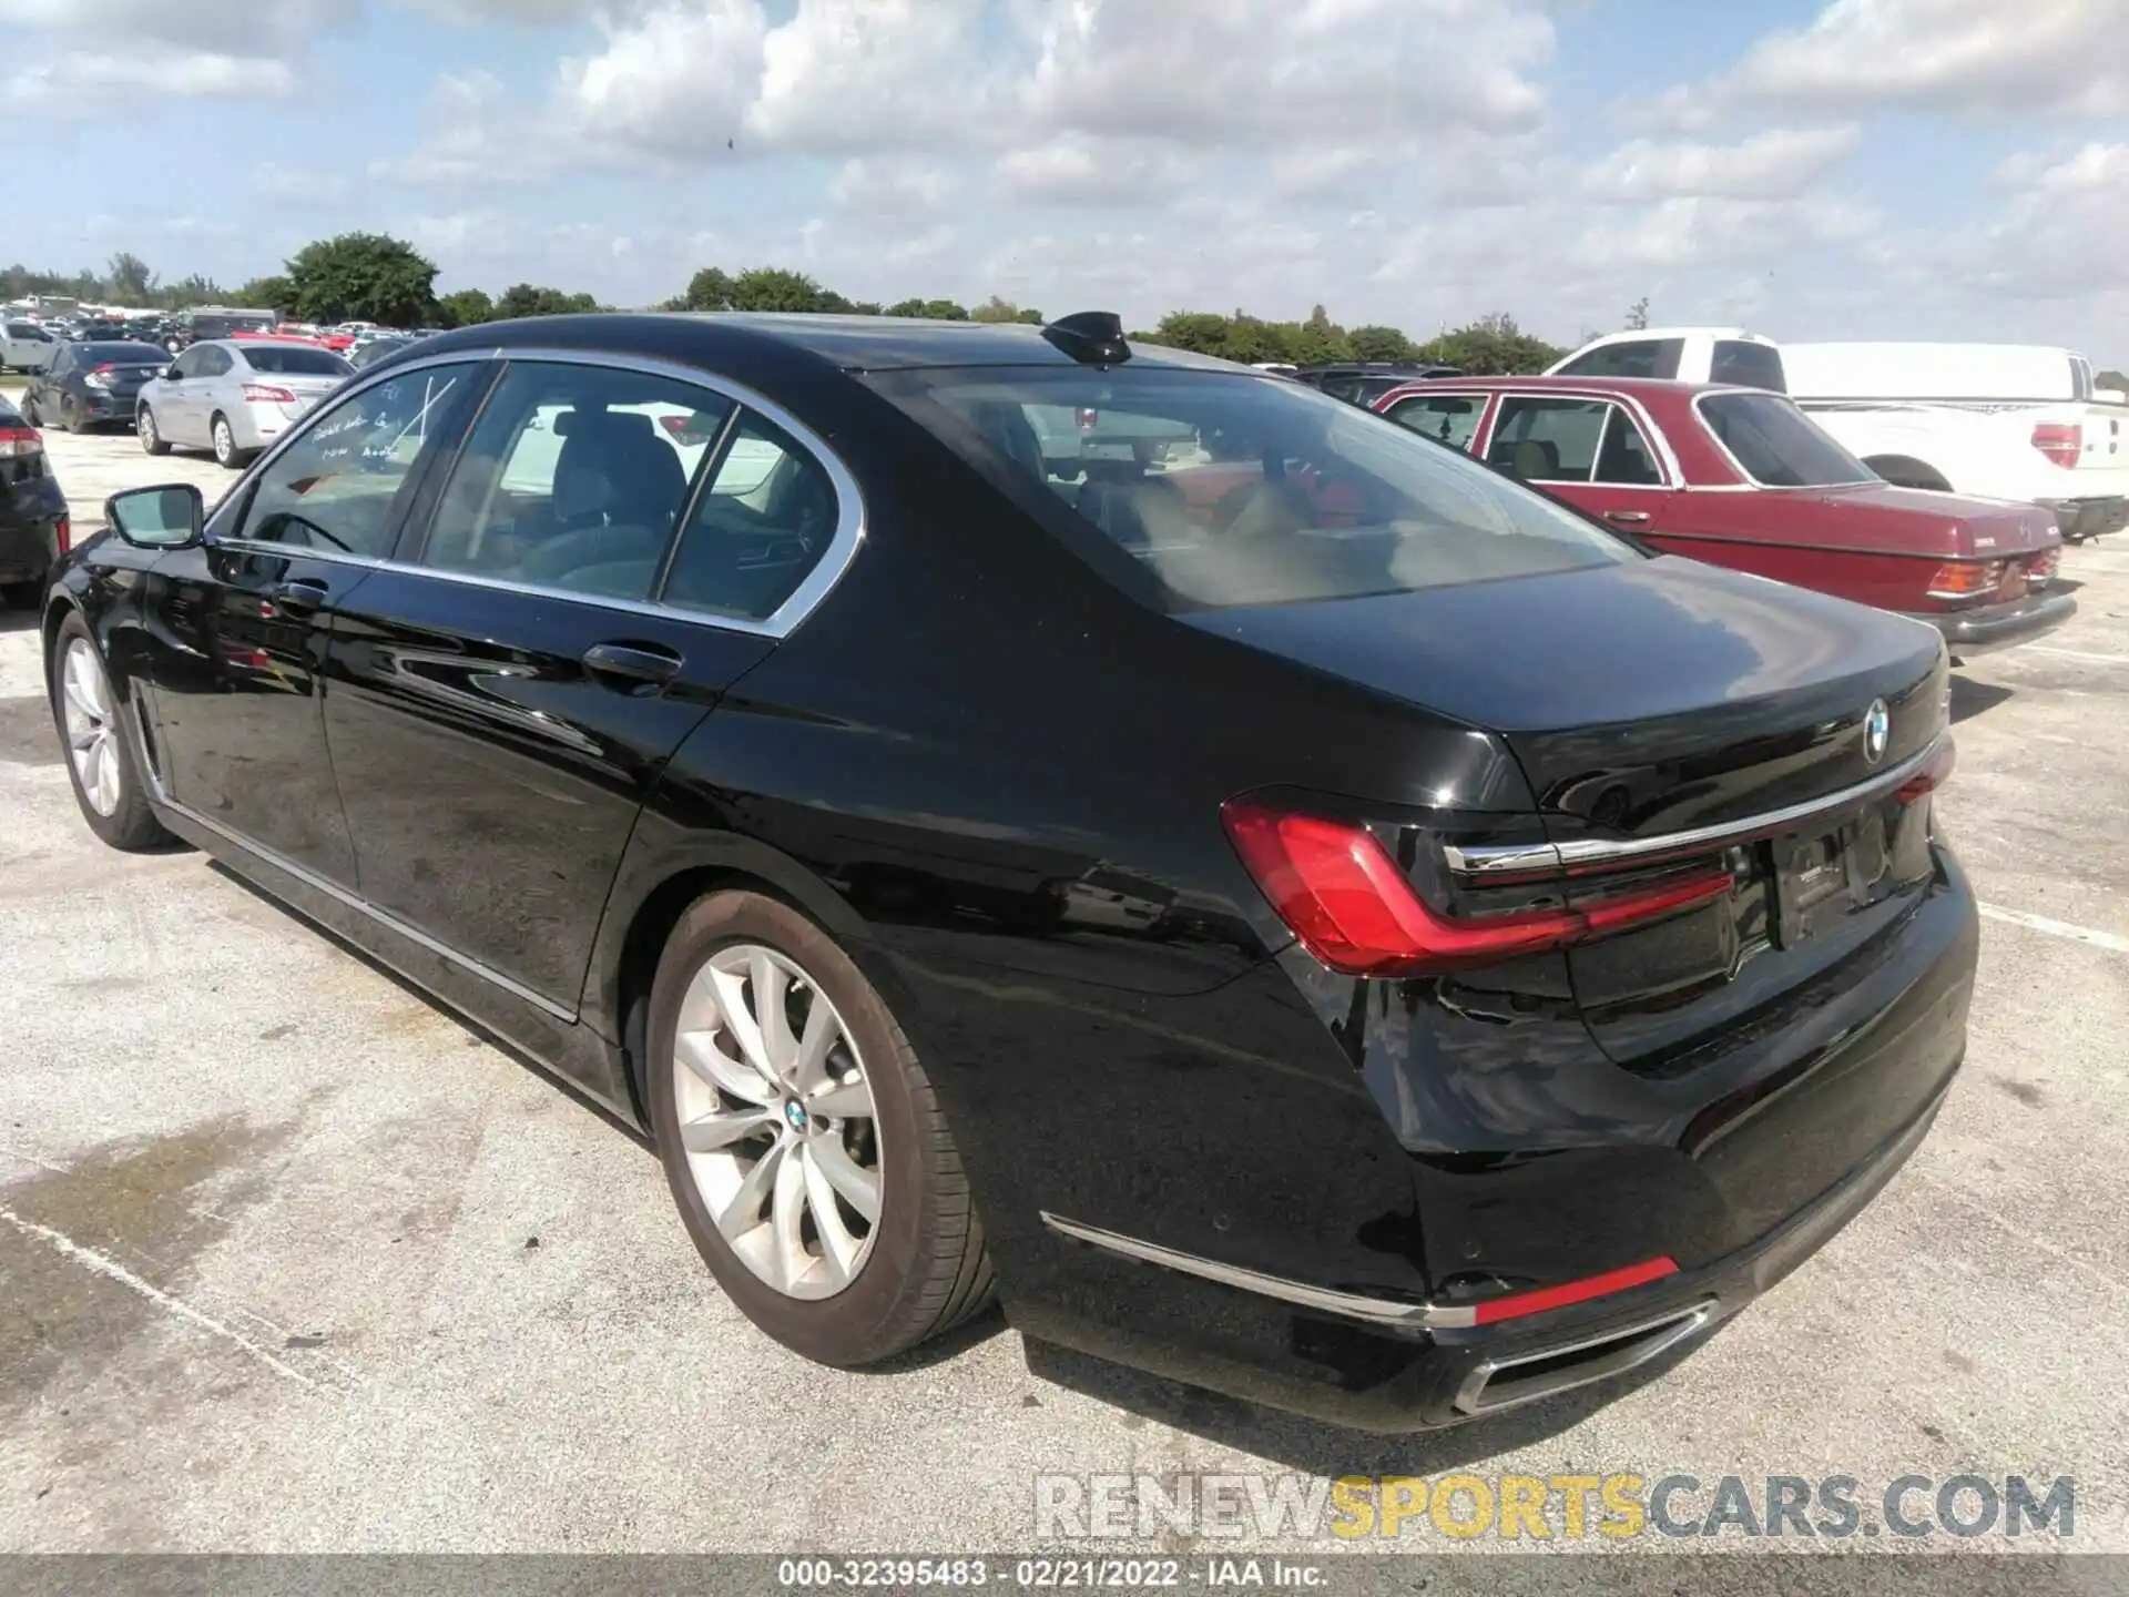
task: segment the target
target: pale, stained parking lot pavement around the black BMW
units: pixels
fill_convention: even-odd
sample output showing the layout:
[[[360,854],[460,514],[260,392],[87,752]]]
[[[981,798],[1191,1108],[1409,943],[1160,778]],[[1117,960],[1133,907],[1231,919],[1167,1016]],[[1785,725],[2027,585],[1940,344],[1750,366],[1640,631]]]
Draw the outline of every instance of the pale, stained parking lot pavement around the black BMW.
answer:
[[[47,439],[83,532],[230,481]],[[1412,1439],[994,1314],[881,1373],[783,1352],[641,1146],[202,856],[96,843],[0,613],[0,1550],[1003,1550],[1037,1473],[1269,1469],[2074,1476],[2074,1544],[2129,1550],[2129,534],[2065,577],[1954,694],[1988,920],[1920,1154],[1661,1380]]]

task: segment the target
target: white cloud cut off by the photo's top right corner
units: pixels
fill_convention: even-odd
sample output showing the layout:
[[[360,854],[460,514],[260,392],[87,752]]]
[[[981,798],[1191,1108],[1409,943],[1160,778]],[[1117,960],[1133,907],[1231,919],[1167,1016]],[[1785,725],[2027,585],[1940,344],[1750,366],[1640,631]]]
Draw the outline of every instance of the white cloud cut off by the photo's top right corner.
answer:
[[[2120,117],[2129,15],[2120,0],[1833,0],[1761,38],[1699,100],[1812,111],[1905,106],[1952,115]]]

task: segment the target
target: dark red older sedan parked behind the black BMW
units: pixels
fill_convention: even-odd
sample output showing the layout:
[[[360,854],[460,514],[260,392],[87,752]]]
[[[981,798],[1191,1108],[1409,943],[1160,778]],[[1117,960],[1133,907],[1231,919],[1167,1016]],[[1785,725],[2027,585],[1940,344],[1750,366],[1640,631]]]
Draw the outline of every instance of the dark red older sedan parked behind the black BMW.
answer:
[[[1957,656],[2076,613],[2048,511],[1895,488],[1780,394],[1629,377],[1454,377],[1371,405],[1669,554],[1901,611]]]

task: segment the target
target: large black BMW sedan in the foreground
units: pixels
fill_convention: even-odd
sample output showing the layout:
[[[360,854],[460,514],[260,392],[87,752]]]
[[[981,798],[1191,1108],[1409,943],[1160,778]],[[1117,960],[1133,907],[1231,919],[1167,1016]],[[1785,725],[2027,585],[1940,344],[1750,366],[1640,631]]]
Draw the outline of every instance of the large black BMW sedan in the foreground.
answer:
[[[1742,1310],[1965,1050],[1933,630],[1116,317],[468,328],[106,513],[87,824],[641,1126],[826,1363],[996,1295],[1490,1414]]]

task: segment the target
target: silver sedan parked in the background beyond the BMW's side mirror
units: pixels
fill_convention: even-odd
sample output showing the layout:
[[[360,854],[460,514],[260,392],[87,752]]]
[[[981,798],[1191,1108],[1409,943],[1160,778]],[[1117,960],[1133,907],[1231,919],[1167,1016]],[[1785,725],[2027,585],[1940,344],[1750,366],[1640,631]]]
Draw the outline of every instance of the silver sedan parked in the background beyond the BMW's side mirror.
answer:
[[[141,390],[134,409],[151,456],[213,449],[238,468],[296,426],[349,375],[341,356],[296,339],[204,339]]]

